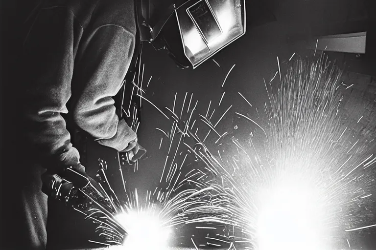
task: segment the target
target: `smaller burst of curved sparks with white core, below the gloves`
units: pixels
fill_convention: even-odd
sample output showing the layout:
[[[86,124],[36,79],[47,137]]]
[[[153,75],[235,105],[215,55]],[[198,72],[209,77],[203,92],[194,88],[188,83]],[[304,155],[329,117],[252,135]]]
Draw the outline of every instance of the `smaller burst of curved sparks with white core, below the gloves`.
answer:
[[[181,180],[178,187],[176,184],[180,173],[172,175],[174,186],[157,187],[154,192],[147,191],[146,200],[141,203],[137,189],[131,192],[124,185],[124,193],[118,196],[111,188],[104,169],[100,169],[99,173],[99,182],[94,186],[98,185],[101,190],[82,190],[91,202],[73,206],[85,214],[86,219],[98,224],[96,231],[104,240],[95,242],[98,244],[118,246],[116,249],[137,247],[145,250],[165,250],[168,249],[173,227],[196,220],[195,216],[189,215],[196,214],[201,220],[211,221],[211,216],[204,212],[212,214],[216,209],[222,210],[205,198],[207,192],[215,188],[204,187],[199,174],[196,174],[197,179],[190,176]],[[185,187],[188,181],[193,181],[196,188]]]

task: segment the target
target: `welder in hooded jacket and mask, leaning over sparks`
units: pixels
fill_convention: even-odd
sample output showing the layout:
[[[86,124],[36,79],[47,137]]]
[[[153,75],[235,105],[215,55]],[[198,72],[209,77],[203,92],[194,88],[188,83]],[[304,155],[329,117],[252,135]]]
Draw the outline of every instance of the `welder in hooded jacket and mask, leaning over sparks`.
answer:
[[[123,80],[136,72],[142,42],[195,68],[245,33],[244,17],[244,0],[43,0],[25,22],[19,112],[27,166],[17,170],[2,249],[46,248],[41,175],[86,175],[76,133],[138,160],[142,147],[114,97],[132,85]]]

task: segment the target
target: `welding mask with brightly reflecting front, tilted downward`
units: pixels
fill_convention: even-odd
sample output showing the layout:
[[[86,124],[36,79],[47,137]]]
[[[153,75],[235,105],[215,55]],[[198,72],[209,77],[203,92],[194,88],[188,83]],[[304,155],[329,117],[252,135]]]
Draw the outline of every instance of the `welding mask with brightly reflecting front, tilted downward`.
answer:
[[[245,34],[245,0],[136,0],[141,42],[195,68]]]

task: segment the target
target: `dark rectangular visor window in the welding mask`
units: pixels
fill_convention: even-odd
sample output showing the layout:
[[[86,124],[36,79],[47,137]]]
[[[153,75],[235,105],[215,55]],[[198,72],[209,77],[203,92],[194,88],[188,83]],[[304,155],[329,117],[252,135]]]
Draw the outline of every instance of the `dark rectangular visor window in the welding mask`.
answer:
[[[213,13],[205,0],[201,0],[187,9],[200,35],[209,43],[222,34]]]

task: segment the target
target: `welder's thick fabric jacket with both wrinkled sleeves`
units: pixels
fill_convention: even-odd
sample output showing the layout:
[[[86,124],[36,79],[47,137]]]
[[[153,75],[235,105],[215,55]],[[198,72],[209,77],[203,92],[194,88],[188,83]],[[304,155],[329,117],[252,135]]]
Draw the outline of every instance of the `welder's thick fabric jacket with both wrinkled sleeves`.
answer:
[[[118,93],[135,49],[133,0],[47,0],[24,39],[24,132],[43,166],[79,162],[66,120],[121,151],[137,139]],[[64,117],[64,118],[63,118]]]

